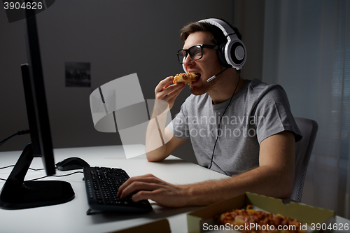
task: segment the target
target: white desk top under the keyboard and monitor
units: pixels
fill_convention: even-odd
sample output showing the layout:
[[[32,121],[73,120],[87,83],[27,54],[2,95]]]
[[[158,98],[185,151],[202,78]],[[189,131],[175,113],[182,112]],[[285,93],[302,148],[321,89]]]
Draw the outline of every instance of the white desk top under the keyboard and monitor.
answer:
[[[137,147],[136,147],[137,148]],[[0,167],[15,164],[20,151],[0,153]],[[146,155],[125,159],[121,146],[103,146],[92,148],[67,148],[55,149],[55,161],[59,162],[67,157],[80,157],[96,167],[119,167],[125,169],[129,176],[154,174],[164,181],[176,184],[195,183],[211,179],[220,179],[227,176],[215,171],[205,169],[196,164],[183,161],[170,156],[164,162],[147,162]],[[42,168],[40,158],[34,158],[31,168]],[[1,169],[0,178],[7,178],[12,168]],[[78,171],[78,170],[75,170]],[[57,171],[57,175],[69,174],[73,171]],[[26,180],[45,176],[44,171],[28,171]],[[135,225],[150,223],[155,220],[167,218],[172,232],[187,232],[186,213],[200,207],[186,207],[169,209],[153,203],[153,211],[146,214],[118,214],[99,213],[91,216],[86,215],[87,197],[83,174],[74,174],[62,178],[45,178],[45,180],[60,180],[71,183],[76,197],[65,204],[45,206],[24,210],[0,209],[0,232],[113,232]],[[0,181],[2,188],[5,181]]]

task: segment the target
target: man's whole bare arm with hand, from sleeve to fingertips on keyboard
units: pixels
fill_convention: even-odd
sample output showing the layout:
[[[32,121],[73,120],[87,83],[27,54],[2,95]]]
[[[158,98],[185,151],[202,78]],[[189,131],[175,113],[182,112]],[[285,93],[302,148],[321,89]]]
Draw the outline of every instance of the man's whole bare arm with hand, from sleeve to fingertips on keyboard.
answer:
[[[151,174],[128,179],[118,196],[132,192],[134,202],[152,199],[163,206],[204,206],[244,192],[287,198],[293,189],[295,139],[292,132],[269,136],[260,143],[260,166],[235,177],[190,185],[173,185]]]

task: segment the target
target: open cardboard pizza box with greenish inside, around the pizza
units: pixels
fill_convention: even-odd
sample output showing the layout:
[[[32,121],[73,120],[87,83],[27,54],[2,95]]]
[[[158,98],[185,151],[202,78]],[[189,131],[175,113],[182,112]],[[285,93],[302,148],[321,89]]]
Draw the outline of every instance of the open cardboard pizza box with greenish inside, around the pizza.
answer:
[[[322,225],[325,223],[328,227],[328,225],[335,223],[334,211],[308,206],[297,202],[289,202],[288,204],[285,204],[282,199],[246,192],[244,195],[239,195],[223,202],[211,204],[210,206],[204,207],[198,211],[188,213],[188,233],[223,232],[214,231],[218,230],[218,227],[214,227],[214,225],[218,225],[214,222],[214,216],[235,209],[246,209],[247,205],[251,205],[253,206],[253,209],[265,211],[267,213],[280,213],[288,218],[295,218],[299,220],[305,228],[307,224],[307,232],[313,232],[312,228],[316,228],[310,227],[312,224],[316,225],[317,223],[320,223]],[[232,230],[232,227],[230,227],[230,232],[240,231],[235,231],[235,229]]]

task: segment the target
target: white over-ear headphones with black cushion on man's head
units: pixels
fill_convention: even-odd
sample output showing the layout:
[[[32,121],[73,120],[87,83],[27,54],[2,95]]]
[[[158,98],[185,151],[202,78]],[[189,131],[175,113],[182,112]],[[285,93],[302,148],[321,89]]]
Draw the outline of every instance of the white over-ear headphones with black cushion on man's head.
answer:
[[[208,22],[212,24],[221,31],[228,39],[226,43],[220,45],[218,48],[218,59],[219,62],[225,67],[234,67],[239,70],[246,62],[246,46],[244,43],[239,40],[235,31],[228,25],[223,22],[223,20],[218,20],[214,18],[210,18],[207,20],[200,20],[198,22]]]

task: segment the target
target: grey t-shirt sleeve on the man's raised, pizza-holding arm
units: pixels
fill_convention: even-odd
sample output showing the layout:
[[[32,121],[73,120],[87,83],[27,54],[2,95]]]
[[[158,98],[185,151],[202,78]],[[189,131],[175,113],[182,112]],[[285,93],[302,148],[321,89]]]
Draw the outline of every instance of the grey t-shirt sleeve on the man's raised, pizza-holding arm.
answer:
[[[187,100],[182,104],[180,112],[167,126],[169,131],[179,139],[189,139],[188,114],[186,111]]]

